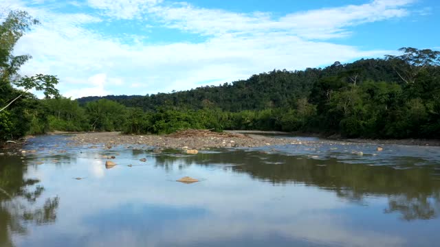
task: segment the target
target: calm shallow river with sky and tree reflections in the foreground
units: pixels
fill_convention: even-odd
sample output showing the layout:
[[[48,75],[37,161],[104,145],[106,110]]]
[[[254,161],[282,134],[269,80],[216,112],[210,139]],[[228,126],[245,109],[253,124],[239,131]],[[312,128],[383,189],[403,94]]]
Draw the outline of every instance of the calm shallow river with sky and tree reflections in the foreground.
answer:
[[[0,246],[438,246],[440,148],[316,141],[189,155],[37,137],[0,156]]]

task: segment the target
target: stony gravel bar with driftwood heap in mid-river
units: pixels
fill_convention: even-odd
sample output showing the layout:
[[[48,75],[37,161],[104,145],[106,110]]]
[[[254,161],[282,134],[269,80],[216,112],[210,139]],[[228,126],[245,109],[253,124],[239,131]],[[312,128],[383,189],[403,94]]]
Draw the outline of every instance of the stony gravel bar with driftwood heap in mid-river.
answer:
[[[127,135],[120,132],[94,132],[74,134],[76,145],[104,144],[148,145],[156,148],[206,148],[261,147],[267,145],[300,144],[298,140],[263,137],[253,134],[216,133],[207,130],[190,130],[169,135]]]

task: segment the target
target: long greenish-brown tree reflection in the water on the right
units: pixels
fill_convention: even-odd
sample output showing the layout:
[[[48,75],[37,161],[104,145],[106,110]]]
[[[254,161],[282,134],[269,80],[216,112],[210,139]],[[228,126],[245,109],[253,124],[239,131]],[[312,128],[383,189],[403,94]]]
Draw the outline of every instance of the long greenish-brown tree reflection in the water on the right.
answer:
[[[232,171],[249,174],[273,185],[300,183],[335,191],[353,203],[364,204],[370,196],[388,198],[384,213],[400,213],[402,220],[429,220],[440,213],[440,180],[434,165],[393,166],[347,164],[336,159],[265,154],[263,152],[221,152],[197,156],[164,155],[156,165],[173,169],[190,165],[234,165]],[[409,163],[409,162],[408,162]]]

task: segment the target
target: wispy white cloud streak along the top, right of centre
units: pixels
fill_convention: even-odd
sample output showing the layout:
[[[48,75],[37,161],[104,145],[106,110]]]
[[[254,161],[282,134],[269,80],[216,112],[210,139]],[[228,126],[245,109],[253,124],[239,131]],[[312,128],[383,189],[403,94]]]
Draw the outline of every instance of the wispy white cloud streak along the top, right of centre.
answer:
[[[157,5],[149,12],[167,27],[205,35],[287,32],[303,38],[335,38],[349,34],[346,28],[408,15],[404,8],[414,0],[375,0],[362,5],[323,8],[272,19],[269,13],[242,14],[197,8],[188,3]]]

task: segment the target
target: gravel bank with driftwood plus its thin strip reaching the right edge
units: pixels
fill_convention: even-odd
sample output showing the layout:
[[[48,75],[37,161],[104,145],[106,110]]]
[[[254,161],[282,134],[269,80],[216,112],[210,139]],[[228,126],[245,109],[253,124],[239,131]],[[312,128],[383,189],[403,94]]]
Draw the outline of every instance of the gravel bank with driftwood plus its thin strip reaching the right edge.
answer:
[[[270,137],[263,134],[280,134],[283,137]],[[286,132],[265,131],[225,131],[223,133],[210,132],[208,130],[186,130],[168,135],[133,135],[121,134],[120,132],[89,132],[73,134],[71,139],[76,145],[104,144],[113,145],[148,145],[157,148],[188,148],[203,150],[206,148],[254,148],[269,145],[307,144],[316,141],[300,141],[287,138]],[[427,145],[440,146],[440,140],[424,139],[340,139],[335,137],[324,138],[318,142],[338,143],[373,143],[377,145]]]

